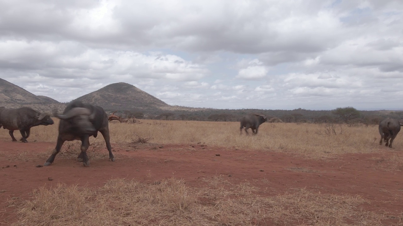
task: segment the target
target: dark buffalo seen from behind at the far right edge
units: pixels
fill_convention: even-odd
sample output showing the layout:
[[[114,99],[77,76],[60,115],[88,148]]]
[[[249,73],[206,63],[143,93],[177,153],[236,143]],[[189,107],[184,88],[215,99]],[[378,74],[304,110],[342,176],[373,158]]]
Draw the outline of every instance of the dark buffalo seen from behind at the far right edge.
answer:
[[[393,140],[395,140],[396,135],[400,131],[400,127],[403,125],[403,120],[386,118],[383,119],[378,126],[379,134],[380,134],[380,141],[379,145],[382,145],[382,139],[386,142],[385,146],[389,146],[392,148]],[[391,142],[389,143],[389,139]]]

